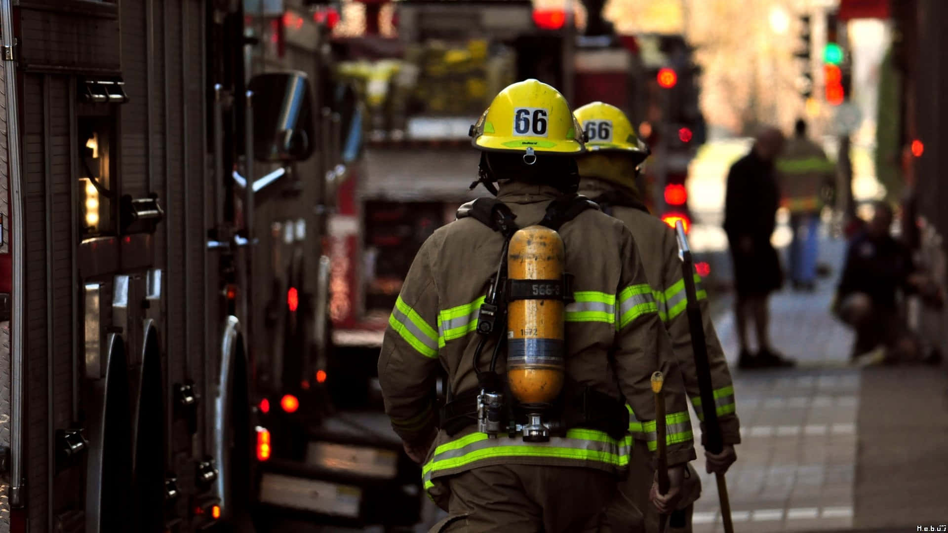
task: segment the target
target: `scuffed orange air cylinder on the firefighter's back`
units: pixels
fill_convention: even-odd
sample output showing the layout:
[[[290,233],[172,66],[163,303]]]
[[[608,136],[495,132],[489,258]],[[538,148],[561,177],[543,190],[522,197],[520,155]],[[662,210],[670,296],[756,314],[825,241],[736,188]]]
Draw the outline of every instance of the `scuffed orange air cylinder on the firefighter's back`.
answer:
[[[559,233],[530,226],[507,252],[507,380],[525,406],[552,403],[566,375],[562,285],[566,253]]]

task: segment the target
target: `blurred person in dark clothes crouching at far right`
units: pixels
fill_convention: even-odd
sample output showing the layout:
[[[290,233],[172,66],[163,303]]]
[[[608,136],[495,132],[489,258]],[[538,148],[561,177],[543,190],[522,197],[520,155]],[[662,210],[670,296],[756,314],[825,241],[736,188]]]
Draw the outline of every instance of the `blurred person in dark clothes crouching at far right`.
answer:
[[[918,292],[925,301],[941,302],[939,290],[917,271],[911,250],[890,234],[891,225],[892,208],[876,202],[872,220],[849,243],[832,308],[856,331],[853,360],[921,358],[920,340],[899,312],[897,292]]]

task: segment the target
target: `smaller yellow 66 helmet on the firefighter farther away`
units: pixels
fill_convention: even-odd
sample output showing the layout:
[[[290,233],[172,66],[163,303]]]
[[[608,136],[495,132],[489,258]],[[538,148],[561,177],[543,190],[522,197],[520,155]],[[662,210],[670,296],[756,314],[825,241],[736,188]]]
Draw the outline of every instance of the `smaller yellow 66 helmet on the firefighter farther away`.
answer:
[[[637,159],[636,165],[648,156],[648,148],[637,135],[629,118],[621,109],[602,101],[593,101],[576,109],[576,120],[589,138],[590,152],[620,152]]]

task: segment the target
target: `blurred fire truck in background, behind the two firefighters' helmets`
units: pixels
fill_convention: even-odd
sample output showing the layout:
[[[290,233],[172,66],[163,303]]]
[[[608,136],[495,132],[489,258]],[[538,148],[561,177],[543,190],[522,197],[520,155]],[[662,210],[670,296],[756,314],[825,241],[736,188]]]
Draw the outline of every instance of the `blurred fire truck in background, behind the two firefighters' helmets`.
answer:
[[[640,187],[669,225],[689,223],[684,182],[703,142],[699,70],[680,36],[617,35],[592,9],[579,34],[571,13],[535,9],[529,0],[395,6],[397,37],[334,43],[340,76],[361,82],[367,105],[364,156],[329,221],[333,343],[347,354],[334,359],[334,374],[346,377],[337,385],[353,401],[373,386],[378,347],[414,255],[462,203],[484,193],[467,189],[480,157],[468,129],[503,86],[536,78],[574,107],[607,101],[625,109],[656,154]],[[367,16],[378,10],[367,4]]]

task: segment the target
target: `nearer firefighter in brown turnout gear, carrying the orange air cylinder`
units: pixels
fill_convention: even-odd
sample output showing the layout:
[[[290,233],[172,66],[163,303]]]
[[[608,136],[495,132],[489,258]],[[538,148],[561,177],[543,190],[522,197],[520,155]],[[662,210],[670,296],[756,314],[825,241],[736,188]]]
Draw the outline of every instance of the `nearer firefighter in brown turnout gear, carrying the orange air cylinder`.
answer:
[[[649,378],[656,370],[667,376],[672,487],[653,497],[656,505],[677,504],[684,465],[695,458],[679,363],[635,240],[623,224],[575,194],[575,156],[585,151],[583,135],[552,86],[537,80],[507,86],[471,127],[471,136],[482,151],[479,179],[471,188],[483,183],[496,198],[465,204],[457,220],[422,245],[378,358],[392,428],[410,458],[423,464],[428,495],[448,513],[431,531],[629,531],[641,516],[619,516],[609,507],[616,481],[629,467],[625,405],[644,430],[635,435],[635,449],[653,448],[647,445],[655,439]],[[557,231],[565,252],[553,255],[573,276],[563,278],[563,285],[553,282],[556,291],[539,291],[562,294],[544,297],[555,299],[546,308],[565,304],[558,307],[562,318],[529,326],[517,323],[513,306],[531,291],[521,291],[514,279],[502,282],[502,266],[507,248],[514,250],[523,232],[514,230],[536,230],[535,225]],[[495,277],[500,284],[492,283]],[[497,318],[510,300],[510,316]],[[562,340],[521,342],[544,328],[558,330]],[[548,404],[548,440],[534,442],[526,433],[535,426],[508,394],[514,377],[507,377],[515,361],[540,360],[557,350],[565,359],[562,393]],[[447,393],[438,409],[434,391],[441,371]],[[498,393],[504,407],[495,413],[503,420],[501,430],[492,432],[496,419],[483,417],[480,408],[493,405]]]

